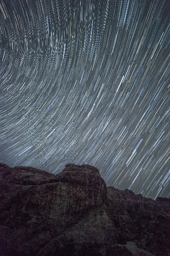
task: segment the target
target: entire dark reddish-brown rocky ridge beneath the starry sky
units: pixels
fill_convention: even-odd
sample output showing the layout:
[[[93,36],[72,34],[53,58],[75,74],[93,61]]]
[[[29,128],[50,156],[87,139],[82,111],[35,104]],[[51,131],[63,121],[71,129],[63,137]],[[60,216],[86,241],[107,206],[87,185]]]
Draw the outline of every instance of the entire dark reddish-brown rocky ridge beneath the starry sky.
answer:
[[[0,164],[0,256],[153,255],[170,256],[170,199],[106,187],[90,165]]]

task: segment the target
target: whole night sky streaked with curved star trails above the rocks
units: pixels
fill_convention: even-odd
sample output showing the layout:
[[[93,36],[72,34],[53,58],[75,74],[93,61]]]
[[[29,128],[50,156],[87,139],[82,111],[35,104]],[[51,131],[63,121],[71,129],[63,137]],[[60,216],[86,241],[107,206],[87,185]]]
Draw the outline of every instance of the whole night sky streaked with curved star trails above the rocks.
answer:
[[[0,0],[0,162],[170,197],[170,2]]]

